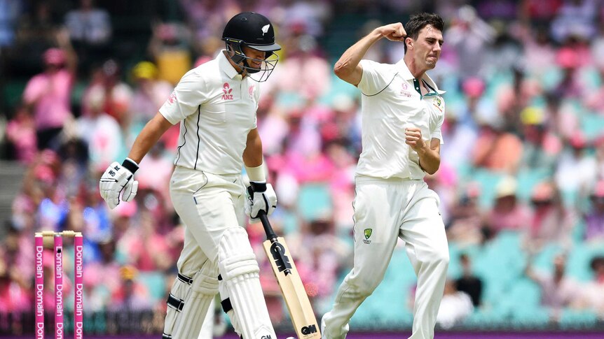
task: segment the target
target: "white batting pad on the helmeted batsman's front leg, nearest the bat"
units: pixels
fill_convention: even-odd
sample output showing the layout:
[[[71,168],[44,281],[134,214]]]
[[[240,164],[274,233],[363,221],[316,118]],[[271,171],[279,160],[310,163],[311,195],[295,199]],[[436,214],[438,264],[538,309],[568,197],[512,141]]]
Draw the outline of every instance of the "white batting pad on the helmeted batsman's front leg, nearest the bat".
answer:
[[[224,232],[218,261],[242,337],[276,338],[260,286],[260,268],[245,229],[231,227]]]

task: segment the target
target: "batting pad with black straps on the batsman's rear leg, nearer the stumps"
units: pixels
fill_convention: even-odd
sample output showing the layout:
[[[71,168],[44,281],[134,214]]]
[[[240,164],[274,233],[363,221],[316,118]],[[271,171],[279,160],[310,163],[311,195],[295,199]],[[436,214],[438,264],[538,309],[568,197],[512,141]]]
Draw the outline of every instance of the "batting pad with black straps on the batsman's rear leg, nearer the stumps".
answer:
[[[207,262],[193,279],[179,274],[168,296],[163,338],[197,338],[218,292],[217,266]]]

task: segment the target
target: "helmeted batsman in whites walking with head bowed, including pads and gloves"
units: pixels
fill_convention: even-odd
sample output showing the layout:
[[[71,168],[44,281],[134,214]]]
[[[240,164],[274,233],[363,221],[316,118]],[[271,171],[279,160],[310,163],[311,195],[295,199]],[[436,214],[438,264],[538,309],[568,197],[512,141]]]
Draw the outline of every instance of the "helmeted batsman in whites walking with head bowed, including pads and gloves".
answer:
[[[144,155],[173,124],[179,146],[170,198],[186,226],[178,276],[167,298],[163,338],[197,338],[210,302],[219,293],[235,331],[245,339],[274,339],[275,331],[249,244],[245,212],[270,215],[277,205],[266,182],[262,143],[256,129],[259,82],[277,64],[273,24],[261,14],[231,18],[222,40],[226,50],[188,71],[170,98],[137,136],[123,164],[114,162],[100,180],[110,208],[132,201]],[[242,168],[251,182],[245,198]]]

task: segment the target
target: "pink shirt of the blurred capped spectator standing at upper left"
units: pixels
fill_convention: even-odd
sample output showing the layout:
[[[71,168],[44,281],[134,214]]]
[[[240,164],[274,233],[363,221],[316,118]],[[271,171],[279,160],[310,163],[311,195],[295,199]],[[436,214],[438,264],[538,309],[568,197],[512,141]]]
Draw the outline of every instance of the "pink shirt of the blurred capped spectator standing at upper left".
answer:
[[[62,127],[71,115],[69,99],[73,77],[61,69],[54,74],[40,73],[27,82],[23,100],[34,105],[36,130]]]

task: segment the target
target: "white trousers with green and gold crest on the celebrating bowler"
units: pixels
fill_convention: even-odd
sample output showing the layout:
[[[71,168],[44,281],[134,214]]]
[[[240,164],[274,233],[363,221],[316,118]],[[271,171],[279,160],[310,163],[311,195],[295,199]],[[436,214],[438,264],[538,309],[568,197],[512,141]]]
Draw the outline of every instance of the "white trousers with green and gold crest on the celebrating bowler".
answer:
[[[383,280],[401,238],[418,277],[409,338],[432,339],[449,261],[439,197],[423,180],[357,176],[355,181],[354,266],[322,319],[322,338],[346,337],[350,318]]]

